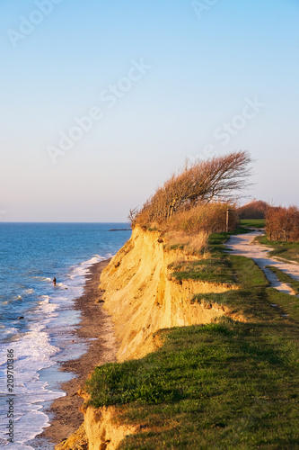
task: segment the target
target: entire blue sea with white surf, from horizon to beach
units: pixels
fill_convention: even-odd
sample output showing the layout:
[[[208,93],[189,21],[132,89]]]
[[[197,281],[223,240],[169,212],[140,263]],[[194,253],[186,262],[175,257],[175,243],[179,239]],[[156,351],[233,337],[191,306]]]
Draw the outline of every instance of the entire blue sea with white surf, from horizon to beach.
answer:
[[[88,347],[74,336],[85,275],[130,236],[128,223],[0,223],[0,447],[37,448],[47,407],[74,377],[59,362]]]

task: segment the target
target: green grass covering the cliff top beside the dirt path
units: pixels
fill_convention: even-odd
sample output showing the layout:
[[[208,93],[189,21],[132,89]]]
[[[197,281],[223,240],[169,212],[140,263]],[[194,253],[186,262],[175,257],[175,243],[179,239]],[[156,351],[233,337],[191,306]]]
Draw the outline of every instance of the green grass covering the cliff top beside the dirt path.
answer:
[[[142,425],[122,449],[299,448],[299,300],[268,288],[250,259],[224,256],[225,238],[210,238],[212,259],[241,290],[193,302],[228,304],[252,320],[163,330],[155,353],[97,368],[92,405],[119,405],[119,420]]]

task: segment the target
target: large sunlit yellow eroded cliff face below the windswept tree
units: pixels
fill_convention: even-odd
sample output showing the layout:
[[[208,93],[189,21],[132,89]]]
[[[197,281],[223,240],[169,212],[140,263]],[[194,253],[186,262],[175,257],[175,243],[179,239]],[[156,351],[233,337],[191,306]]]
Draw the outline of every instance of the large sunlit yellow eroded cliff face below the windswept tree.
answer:
[[[164,247],[160,233],[136,228],[101,274],[104,308],[115,326],[119,361],[153,351],[153,333],[158,329],[205,324],[231,315],[223,306],[192,304],[191,299],[198,293],[223,293],[232,286],[177,282],[168,266],[194,257]]]

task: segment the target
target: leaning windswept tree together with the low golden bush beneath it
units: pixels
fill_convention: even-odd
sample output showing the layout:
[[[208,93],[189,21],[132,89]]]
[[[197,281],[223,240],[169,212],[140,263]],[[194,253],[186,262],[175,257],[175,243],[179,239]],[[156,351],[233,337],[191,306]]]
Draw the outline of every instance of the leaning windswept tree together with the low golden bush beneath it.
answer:
[[[244,151],[188,163],[159,187],[140,211],[130,211],[132,226],[189,232],[223,230],[227,208],[233,209],[238,194],[247,185],[250,163],[251,157]],[[215,229],[211,229],[212,224]]]

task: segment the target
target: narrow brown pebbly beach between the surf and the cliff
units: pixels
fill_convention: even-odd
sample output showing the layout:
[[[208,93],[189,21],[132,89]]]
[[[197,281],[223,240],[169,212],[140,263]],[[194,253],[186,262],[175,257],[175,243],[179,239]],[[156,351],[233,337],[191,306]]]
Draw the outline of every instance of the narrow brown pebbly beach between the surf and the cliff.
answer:
[[[87,343],[88,350],[77,359],[66,359],[60,363],[59,370],[74,374],[74,377],[60,385],[66,396],[53,401],[45,410],[51,426],[32,440],[31,446],[34,448],[47,448],[47,442],[54,448],[81,426],[84,415],[80,409],[84,399],[77,392],[94,367],[116,361],[113,326],[109,314],[102,308],[102,293],[99,290],[101,271],[109,261],[107,259],[90,267],[89,274],[85,275],[84,293],[74,302],[73,309],[82,314],[75,334]]]

